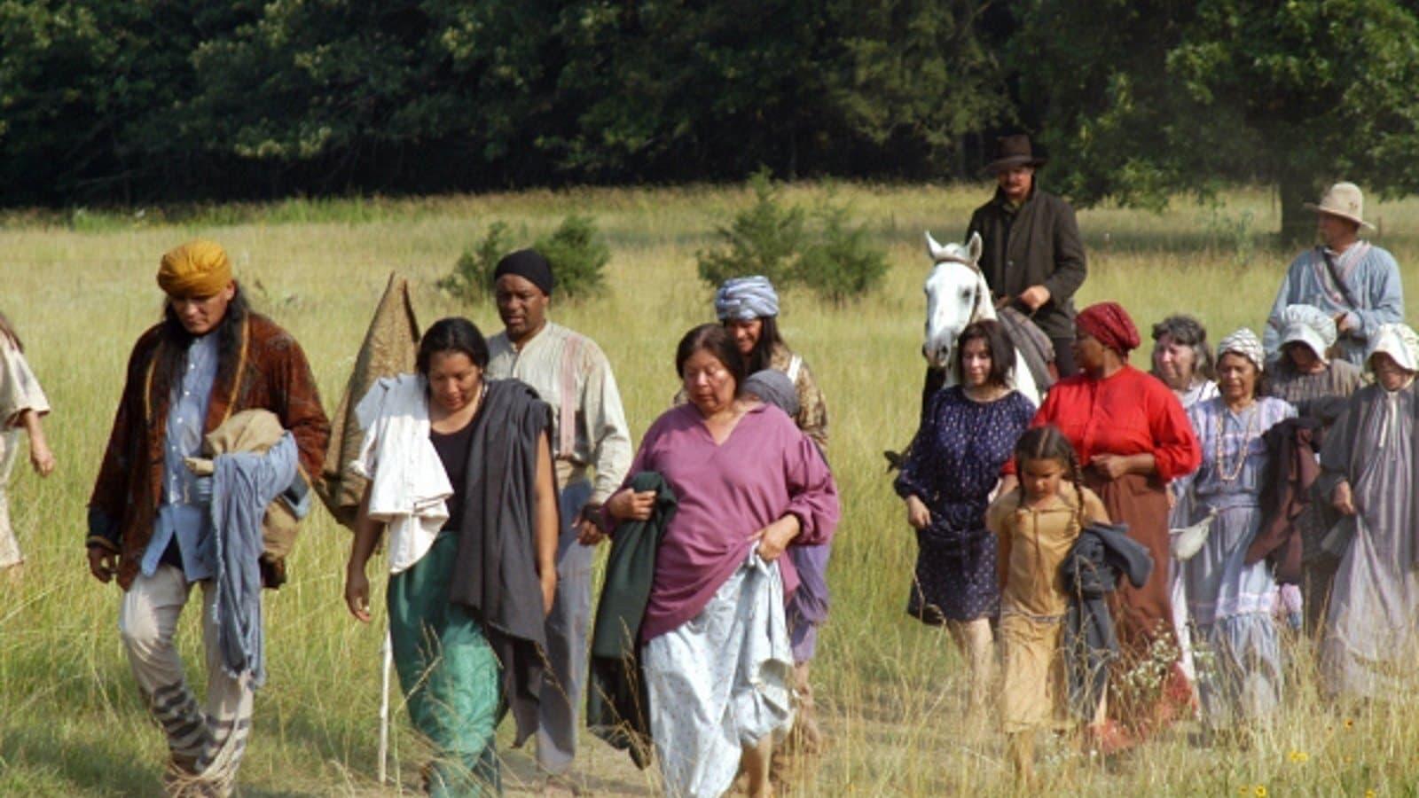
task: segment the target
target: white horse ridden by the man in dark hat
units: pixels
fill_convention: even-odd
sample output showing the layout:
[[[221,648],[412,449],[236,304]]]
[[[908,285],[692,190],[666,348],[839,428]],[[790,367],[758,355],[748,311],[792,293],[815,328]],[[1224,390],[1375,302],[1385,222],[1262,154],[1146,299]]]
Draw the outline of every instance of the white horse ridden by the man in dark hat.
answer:
[[[956,359],[961,352],[956,339],[966,325],[993,319],[995,302],[990,287],[976,263],[981,260],[981,234],[972,233],[966,244],[938,244],[927,233],[927,254],[931,256],[931,275],[927,277],[927,339],[921,354],[932,368],[944,369],[946,385],[956,383]],[[1015,376],[1010,386],[1026,399],[1040,405],[1040,389],[1019,348],[1015,351]]]

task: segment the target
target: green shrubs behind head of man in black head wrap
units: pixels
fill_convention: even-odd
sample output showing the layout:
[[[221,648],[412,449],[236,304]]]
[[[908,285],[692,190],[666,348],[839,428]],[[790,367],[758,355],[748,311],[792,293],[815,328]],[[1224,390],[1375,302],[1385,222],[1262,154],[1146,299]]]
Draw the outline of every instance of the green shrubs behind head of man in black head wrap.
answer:
[[[502,256],[515,248],[508,239],[508,226],[492,223],[478,246],[458,256],[453,271],[438,280],[438,288],[470,302],[490,297],[492,271]],[[568,216],[532,248],[552,264],[559,297],[592,297],[606,290],[604,271],[612,253],[590,217]]]

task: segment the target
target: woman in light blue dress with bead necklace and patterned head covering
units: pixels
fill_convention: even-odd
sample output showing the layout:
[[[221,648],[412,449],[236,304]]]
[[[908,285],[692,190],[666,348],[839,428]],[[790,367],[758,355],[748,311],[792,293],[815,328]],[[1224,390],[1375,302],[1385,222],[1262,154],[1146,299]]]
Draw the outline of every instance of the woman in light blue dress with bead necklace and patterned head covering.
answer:
[[[1261,341],[1250,329],[1223,338],[1218,345],[1222,395],[1188,410],[1202,444],[1202,467],[1181,487],[1191,498],[1192,523],[1218,511],[1202,550],[1182,564],[1196,628],[1198,692],[1212,728],[1264,718],[1281,694],[1281,650],[1271,613],[1277,585],[1271,567],[1264,559],[1247,565],[1246,552],[1261,527],[1267,463],[1261,436],[1294,417],[1296,408],[1264,396],[1264,362]]]

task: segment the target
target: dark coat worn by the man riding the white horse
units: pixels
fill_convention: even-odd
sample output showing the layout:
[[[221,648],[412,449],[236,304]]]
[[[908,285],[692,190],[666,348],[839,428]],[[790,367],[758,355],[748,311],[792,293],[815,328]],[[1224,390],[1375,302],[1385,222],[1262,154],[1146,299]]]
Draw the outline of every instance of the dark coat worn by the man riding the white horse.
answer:
[[[1050,301],[1032,317],[1050,338],[1074,337],[1074,291],[1084,283],[1084,243],[1074,209],[1060,197],[1034,189],[1019,210],[1010,212],[1005,195],[971,214],[966,240],[981,234],[981,271],[999,297],[1019,297],[1032,285],[1044,285]],[[1020,312],[1029,308],[1016,302]]]

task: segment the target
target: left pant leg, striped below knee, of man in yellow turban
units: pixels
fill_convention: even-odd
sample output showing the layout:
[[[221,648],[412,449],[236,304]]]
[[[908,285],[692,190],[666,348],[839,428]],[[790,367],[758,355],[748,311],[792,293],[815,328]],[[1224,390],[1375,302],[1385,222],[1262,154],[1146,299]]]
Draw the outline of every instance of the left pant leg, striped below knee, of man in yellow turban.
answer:
[[[138,689],[167,736],[173,760],[194,768],[211,737],[173,645],[187,592],[187,579],[172,565],[159,565],[152,576],[139,574],[123,594],[118,629]]]

